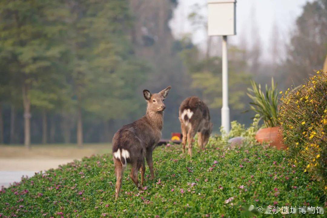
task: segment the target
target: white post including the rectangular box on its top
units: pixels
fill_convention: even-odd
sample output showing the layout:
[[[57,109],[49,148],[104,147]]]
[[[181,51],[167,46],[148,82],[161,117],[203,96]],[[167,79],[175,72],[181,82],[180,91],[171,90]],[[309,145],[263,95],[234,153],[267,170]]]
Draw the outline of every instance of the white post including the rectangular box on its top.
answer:
[[[236,35],[236,0],[208,0],[208,35],[223,36],[221,126],[228,133],[230,130],[230,117],[228,107],[227,36]]]

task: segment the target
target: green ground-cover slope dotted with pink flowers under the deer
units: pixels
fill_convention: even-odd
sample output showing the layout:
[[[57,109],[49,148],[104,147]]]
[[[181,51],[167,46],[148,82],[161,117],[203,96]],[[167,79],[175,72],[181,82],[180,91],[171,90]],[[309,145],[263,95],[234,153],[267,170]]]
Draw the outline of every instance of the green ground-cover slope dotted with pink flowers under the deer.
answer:
[[[237,217],[250,205],[325,205],[318,182],[285,160],[284,151],[222,149],[214,140],[208,147],[195,149],[192,160],[179,145],[157,147],[156,180],[149,180],[147,169],[139,192],[128,169],[117,202],[111,155],[75,161],[3,189],[0,217]]]

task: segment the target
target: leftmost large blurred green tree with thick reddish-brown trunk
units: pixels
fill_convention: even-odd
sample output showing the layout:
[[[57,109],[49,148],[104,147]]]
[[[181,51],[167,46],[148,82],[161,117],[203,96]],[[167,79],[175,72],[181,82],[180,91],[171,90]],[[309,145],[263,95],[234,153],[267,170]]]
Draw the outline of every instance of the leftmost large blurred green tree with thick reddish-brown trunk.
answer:
[[[0,51],[12,63],[10,75],[16,76],[22,90],[26,147],[30,146],[33,90],[43,78],[51,77],[53,60],[65,50],[56,43],[60,25],[48,16],[53,6],[52,1],[41,0],[0,2]]]

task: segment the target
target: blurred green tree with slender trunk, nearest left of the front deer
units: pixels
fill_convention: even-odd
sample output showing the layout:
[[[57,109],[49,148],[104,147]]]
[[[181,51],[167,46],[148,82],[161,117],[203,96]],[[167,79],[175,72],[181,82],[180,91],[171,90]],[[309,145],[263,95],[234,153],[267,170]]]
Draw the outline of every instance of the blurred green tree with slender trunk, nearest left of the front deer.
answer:
[[[138,70],[142,63],[130,59],[134,55],[126,31],[131,26],[128,1],[73,1],[69,6],[73,17],[66,40],[71,60],[69,76],[76,99],[77,144],[82,146],[83,112],[93,112],[106,120],[118,118],[113,112],[128,101],[123,100],[121,92],[130,92],[129,87],[138,84],[126,81],[138,78],[130,76],[132,72],[142,74]],[[129,110],[134,106],[137,104]]]

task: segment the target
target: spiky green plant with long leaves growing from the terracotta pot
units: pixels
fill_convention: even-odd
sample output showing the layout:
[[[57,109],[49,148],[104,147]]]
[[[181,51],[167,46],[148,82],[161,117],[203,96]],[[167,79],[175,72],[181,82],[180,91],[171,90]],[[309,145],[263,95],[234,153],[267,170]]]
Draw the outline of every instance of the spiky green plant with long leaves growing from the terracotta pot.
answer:
[[[271,87],[266,84],[266,92],[261,90],[261,85],[251,80],[248,96],[251,98],[250,108],[260,115],[266,127],[278,126],[278,91],[277,83],[271,78]]]

